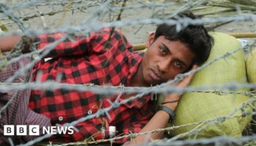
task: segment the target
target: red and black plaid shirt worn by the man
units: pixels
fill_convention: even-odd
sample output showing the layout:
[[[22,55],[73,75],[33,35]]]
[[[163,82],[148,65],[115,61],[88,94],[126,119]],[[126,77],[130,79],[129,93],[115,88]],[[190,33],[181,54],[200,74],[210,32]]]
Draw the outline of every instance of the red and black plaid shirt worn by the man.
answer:
[[[42,34],[37,41],[40,49],[63,37],[59,34]],[[92,32],[89,37],[79,37],[75,42],[65,40],[51,50],[47,57],[49,61],[39,61],[34,66],[33,80],[54,80],[61,77],[61,82],[69,84],[94,83],[94,85],[120,85],[129,86],[129,80],[138,71],[143,53],[132,51],[132,45],[120,31],[113,31],[110,39],[110,28]],[[97,112],[100,108],[109,107],[110,99],[86,91],[31,91],[29,107],[31,110],[46,115],[51,119],[52,125],[56,123],[70,123],[73,120]],[[123,100],[124,96],[119,99]],[[109,112],[110,118],[103,115],[99,118],[78,123],[75,127],[78,132],[72,135],[58,135],[57,138],[70,142],[87,139],[107,139],[108,126],[116,126],[117,135],[139,132],[153,115],[153,104],[150,96],[135,99],[128,104],[121,105]],[[102,137],[101,130],[105,128],[106,135]],[[125,142],[120,139],[117,142]]]

